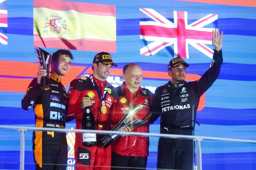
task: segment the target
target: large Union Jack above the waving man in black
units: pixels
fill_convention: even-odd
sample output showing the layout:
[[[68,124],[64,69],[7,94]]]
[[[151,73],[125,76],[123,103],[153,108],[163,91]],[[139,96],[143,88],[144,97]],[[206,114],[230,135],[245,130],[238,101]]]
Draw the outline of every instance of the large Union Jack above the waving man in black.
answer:
[[[189,55],[203,54],[212,58],[212,30],[217,28],[217,14],[157,12],[149,8],[140,8],[140,11],[140,55],[158,53],[189,58]]]

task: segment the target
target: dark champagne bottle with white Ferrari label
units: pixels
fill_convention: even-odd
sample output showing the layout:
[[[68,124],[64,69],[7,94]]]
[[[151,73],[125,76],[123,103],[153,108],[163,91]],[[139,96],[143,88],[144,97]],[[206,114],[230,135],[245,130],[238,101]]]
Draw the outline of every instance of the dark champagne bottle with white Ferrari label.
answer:
[[[96,122],[90,106],[84,107],[81,122],[82,129],[96,130]],[[96,146],[97,138],[95,133],[82,133],[82,142],[84,147]]]

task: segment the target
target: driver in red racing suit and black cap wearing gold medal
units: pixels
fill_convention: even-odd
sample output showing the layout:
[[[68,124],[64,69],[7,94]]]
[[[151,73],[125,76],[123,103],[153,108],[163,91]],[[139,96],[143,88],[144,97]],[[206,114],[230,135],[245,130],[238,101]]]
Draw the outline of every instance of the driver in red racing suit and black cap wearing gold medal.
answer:
[[[90,78],[71,82],[67,117],[76,118],[76,129],[81,129],[84,107],[90,106],[96,120],[96,129],[110,130],[110,111],[117,103],[117,89],[106,81],[112,65],[117,67],[112,57],[106,52],[100,52],[94,57],[93,74]],[[102,107],[106,110],[102,110]],[[105,149],[100,143],[102,137],[103,135],[97,134],[97,146],[83,147],[82,134],[75,134],[76,170],[110,170],[111,146]]]

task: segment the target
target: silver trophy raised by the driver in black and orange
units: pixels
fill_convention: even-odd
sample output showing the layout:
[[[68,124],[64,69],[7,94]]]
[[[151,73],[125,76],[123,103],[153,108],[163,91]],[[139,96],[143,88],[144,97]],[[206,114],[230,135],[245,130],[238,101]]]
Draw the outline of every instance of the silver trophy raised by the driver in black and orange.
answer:
[[[49,90],[51,85],[50,78],[49,78],[49,67],[52,60],[52,55],[39,47],[34,46],[34,48],[35,48],[35,55],[37,56],[39,66],[43,66],[47,72],[46,76],[41,77],[40,88],[42,90]]]

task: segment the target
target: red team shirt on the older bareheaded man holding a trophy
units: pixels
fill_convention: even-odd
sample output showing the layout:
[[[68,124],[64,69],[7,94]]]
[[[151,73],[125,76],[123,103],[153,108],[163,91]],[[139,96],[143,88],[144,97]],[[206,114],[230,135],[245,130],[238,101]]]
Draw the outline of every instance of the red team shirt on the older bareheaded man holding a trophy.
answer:
[[[143,109],[138,111],[135,115],[139,119],[144,118],[151,109],[151,104],[153,101],[153,93],[146,88],[140,87],[138,94],[133,96],[133,94],[125,87],[124,83],[117,87],[118,89],[118,100],[117,107],[114,115],[114,126],[118,124],[124,114],[127,112],[129,102],[133,104],[142,104],[148,106],[149,109]],[[132,132],[143,132],[148,133],[149,131],[149,122],[144,122],[143,124],[132,128]],[[148,156],[148,146],[149,140],[148,137],[141,136],[125,136],[118,137],[112,143],[112,152],[124,155],[124,156],[138,156],[144,157]]]

